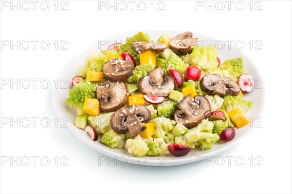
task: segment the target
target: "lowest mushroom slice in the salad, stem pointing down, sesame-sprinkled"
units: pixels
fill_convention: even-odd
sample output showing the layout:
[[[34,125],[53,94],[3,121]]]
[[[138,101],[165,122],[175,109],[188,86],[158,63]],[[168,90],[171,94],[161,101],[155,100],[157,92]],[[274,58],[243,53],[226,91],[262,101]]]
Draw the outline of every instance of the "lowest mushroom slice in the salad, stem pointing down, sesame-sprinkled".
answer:
[[[128,105],[115,111],[110,119],[110,127],[116,133],[125,134],[129,131],[132,138],[143,132],[144,123],[151,118],[150,111],[143,105]]]

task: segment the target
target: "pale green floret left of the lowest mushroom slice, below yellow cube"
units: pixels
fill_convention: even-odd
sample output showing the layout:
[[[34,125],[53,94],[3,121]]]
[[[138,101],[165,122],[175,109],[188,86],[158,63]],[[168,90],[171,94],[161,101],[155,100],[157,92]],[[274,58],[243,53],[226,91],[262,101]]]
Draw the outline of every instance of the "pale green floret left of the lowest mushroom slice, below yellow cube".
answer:
[[[87,118],[89,125],[98,133],[106,133],[110,130],[110,117],[113,112],[100,113],[98,116],[89,116]]]

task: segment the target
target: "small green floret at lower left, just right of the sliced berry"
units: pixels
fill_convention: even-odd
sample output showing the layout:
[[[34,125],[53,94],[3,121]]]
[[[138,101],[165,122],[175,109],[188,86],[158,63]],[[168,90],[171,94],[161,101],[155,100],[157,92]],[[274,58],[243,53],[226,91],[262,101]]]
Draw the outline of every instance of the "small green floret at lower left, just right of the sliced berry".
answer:
[[[110,131],[103,134],[100,139],[100,142],[109,146],[110,148],[119,148],[121,149],[124,146],[124,135],[118,134],[114,132],[114,130],[110,129]]]

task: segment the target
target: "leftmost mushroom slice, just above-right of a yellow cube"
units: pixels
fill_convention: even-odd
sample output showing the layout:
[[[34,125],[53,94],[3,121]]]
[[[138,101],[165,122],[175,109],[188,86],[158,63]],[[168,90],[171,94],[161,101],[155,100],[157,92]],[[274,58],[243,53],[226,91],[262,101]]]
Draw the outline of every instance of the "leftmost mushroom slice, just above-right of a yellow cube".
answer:
[[[116,111],[124,106],[128,99],[128,88],[124,82],[105,81],[96,87],[96,98],[103,112]]]

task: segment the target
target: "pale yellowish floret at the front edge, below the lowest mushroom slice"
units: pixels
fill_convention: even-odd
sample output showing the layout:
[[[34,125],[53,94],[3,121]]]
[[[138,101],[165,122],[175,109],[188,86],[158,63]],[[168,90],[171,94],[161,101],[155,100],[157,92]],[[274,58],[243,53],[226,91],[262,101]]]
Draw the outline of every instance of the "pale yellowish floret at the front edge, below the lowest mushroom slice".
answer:
[[[138,135],[134,139],[128,139],[125,148],[130,154],[134,154],[138,157],[145,156],[149,151],[146,142],[141,138],[140,135]]]

